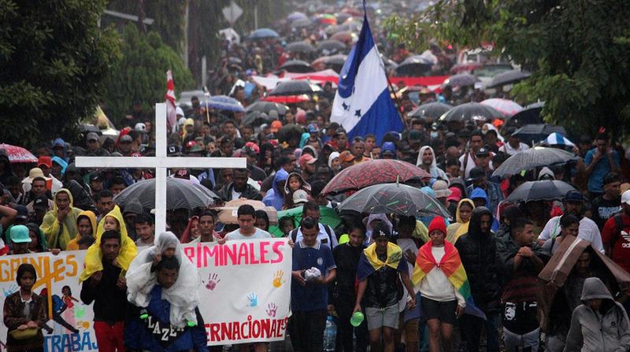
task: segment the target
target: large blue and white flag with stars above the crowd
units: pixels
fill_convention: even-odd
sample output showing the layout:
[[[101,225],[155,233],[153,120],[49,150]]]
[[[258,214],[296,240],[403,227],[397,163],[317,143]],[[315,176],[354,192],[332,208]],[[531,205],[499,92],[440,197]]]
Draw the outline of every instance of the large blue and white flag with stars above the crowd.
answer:
[[[404,128],[389,95],[387,76],[367,16],[358,42],[341,69],[330,120],[348,132],[348,139],[374,133],[378,144],[386,132],[401,132]]]

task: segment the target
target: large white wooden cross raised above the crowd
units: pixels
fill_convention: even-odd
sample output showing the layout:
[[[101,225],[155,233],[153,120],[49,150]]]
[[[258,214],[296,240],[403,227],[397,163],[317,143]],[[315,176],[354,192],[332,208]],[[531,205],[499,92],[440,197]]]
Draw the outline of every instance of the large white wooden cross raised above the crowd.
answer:
[[[156,104],[156,156],[154,157],[76,157],[77,167],[156,169],[156,234],[166,231],[166,169],[247,167],[244,157],[168,157],[166,155],[166,104]]]

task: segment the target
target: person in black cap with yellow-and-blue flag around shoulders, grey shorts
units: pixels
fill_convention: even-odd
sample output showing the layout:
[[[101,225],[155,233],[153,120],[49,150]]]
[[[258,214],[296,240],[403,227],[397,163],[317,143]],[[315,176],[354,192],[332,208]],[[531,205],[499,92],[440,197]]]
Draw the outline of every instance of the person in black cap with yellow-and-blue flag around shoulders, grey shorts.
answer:
[[[354,311],[360,311],[362,306],[365,308],[370,351],[381,351],[381,347],[383,351],[394,351],[394,331],[399,322],[398,301],[403,297],[403,285],[410,297],[408,309],[416,306],[416,295],[403,250],[390,242],[391,230],[384,222],[374,222],[372,239],[374,243],[364,249],[358,262]]]

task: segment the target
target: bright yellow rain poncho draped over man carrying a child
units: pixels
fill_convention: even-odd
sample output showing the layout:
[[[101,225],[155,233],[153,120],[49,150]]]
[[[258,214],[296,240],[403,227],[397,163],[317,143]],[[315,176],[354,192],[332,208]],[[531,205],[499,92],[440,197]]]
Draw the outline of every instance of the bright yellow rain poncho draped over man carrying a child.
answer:
[[[138,249],[135,247],[134,241],[127,235],[127,227],[125,227],[125,220],[122,217],[122,213],[120,213],[120,208],[118,208],[118,205],[115,205],[113,210],[107,213],[98,223],[96,242],[88,248],[88,253],[85,256],[85,268],[79,276],[79,281],[83,282],[88,280],[89,276],[93,273],[103,270],[101,236],[105,230],[114,229],[110,226],[116,227],[115,230],[120,232],[120,253],[118,253],[118,256],[114,259],[114,264],[122,268],[123,271],[121,275],[125,275],[126,271],[129,269],[129,264],[138,254]]]

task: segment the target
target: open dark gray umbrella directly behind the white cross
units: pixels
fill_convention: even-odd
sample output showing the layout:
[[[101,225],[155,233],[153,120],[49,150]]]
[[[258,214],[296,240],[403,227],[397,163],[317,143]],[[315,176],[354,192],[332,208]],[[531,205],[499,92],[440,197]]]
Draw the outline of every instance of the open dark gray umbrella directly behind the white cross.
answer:
[[[155,208],[155,184],[156,180],[154,178],[134,183],[118,193],[114,198],[114,202],[124,208],[126,202],[137,200],[142,205],[142,208]],[[192,181],[180,178],[166,179],[167,209],[207,207],[214,204],[212,198],[219,198],[219,196]]]

